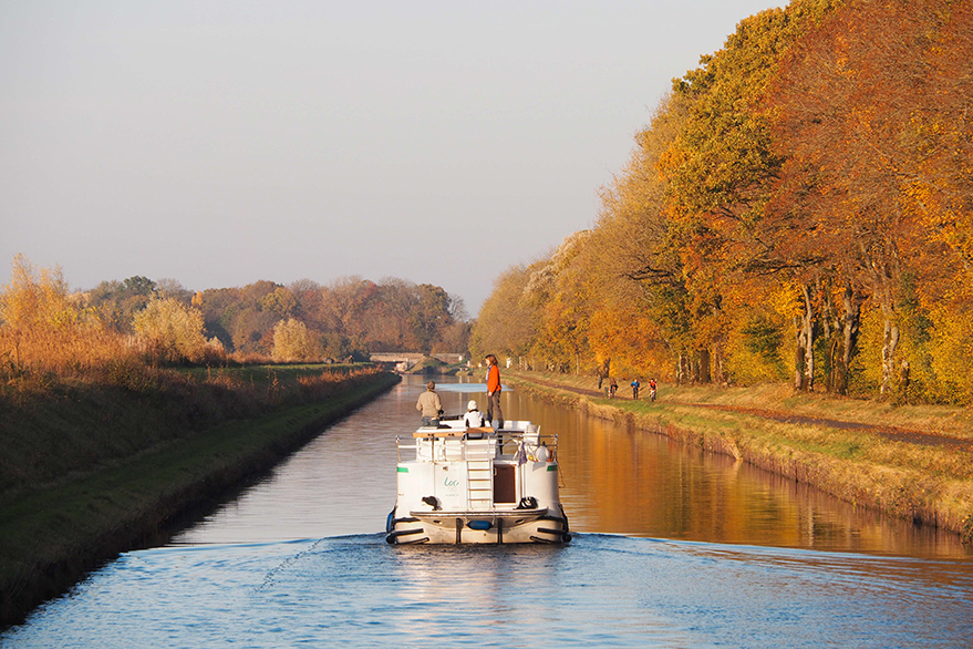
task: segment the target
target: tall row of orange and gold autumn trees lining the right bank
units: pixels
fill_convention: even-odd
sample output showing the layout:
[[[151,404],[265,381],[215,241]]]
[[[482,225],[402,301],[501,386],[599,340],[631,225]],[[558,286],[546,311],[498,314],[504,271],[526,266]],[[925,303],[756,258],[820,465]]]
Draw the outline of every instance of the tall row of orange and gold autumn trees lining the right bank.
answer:
[[[973,0],[793,0],[673,82],[475,351],[973,402]]]

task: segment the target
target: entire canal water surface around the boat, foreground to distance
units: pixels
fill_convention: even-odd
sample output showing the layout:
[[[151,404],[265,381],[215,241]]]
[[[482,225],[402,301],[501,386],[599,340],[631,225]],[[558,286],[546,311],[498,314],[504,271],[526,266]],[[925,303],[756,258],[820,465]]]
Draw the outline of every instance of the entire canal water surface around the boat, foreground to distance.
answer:
[[[573,542],[389,546],[395,437],[423,389],[407,378],[0,646],[973,646],[973,555],[955,535],[514,391],[507,419],[559,435]],[[439,392],[459,413],[480,390]]]

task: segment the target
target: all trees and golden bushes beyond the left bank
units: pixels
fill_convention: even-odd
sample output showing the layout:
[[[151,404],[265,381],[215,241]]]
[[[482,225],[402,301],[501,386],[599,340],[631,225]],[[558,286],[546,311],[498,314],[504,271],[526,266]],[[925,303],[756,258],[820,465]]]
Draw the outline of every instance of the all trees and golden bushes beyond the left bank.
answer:
[[[133,352],[163,363],[366,360],[389,350],[463,352],[468,338],[462,299],[401,279],[194,292],[131,277],[72,292],[60,269],[17,256],[0,295],[0,358],[14,372],[74,374]]]

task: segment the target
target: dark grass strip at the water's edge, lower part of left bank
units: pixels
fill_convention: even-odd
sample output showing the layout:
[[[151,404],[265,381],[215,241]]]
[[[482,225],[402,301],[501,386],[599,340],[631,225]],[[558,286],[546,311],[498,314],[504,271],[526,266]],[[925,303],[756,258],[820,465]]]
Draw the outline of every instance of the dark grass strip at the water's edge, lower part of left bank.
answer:
[[[0,627],[118,553],[167,538],[397,381],[385,373],[360,377],[323,401],[164,440],[124,462],[4,498]]]

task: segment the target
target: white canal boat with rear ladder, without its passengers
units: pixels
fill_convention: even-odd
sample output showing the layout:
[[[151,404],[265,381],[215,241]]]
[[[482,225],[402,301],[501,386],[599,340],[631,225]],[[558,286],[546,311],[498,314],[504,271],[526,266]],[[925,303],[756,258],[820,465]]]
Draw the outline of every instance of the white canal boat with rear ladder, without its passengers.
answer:
[[[390,544],[568,543],[557,435],[527,421],[467,429],[445,420],[396,439],[398,497]]]

